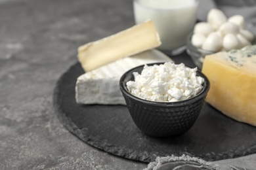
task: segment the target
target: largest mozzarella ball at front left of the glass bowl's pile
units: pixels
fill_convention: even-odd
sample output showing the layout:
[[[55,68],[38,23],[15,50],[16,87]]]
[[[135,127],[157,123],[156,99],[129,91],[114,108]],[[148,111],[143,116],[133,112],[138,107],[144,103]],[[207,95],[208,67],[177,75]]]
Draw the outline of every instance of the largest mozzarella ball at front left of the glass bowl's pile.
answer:
[[[218,52],[222,46],[222,37],[218,33],[210,33],[203,42],[202,49],[211,52]]]

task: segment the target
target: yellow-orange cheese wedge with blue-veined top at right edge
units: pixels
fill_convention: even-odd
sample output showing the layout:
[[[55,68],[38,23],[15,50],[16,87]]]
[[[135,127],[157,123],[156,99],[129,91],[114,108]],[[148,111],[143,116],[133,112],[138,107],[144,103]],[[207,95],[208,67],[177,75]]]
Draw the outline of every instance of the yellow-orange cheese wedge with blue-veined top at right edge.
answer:
[[[256,126],[256,46],[205,57],[211,88],[206,101],[240,122]]]

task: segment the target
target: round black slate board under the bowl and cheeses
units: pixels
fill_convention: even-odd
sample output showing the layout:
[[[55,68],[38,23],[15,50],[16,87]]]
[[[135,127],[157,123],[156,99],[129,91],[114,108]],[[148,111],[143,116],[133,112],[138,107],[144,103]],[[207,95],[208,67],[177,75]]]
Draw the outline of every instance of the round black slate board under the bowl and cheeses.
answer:
[[[194,67],[183,52],[176,63]],[[207,103],[192,129],[179,137],[156,138],[140,132],[122,105],[78,105],[75,82],[83,74],[72,65],[54,89],[54,107],[60,122],[87,144],[131,160],[150,162],[157,156],[188,154],[207,161],[237,158],[256,153],[256,127],[236,122]]]

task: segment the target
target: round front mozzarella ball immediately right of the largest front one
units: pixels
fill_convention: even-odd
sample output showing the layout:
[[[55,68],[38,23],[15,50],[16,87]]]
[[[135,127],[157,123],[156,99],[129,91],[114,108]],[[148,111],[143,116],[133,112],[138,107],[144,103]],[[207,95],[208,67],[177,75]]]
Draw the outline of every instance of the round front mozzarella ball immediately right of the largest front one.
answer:
[[[240,41],[238,40],[238,37],[232,33],[228,33],[223,38],[223,48],[226,51],[230,51],[232,49],[239,49],[241,46]]]

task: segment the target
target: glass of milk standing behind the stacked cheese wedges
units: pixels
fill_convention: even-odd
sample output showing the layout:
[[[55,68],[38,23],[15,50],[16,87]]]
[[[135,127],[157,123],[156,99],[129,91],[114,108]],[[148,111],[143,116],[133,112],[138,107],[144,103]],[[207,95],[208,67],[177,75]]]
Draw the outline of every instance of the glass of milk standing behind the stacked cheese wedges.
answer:
[[[196,23],[198,0],[133,0],[136,24],[151,19],[160,35],[160,50],[179,54]]]

